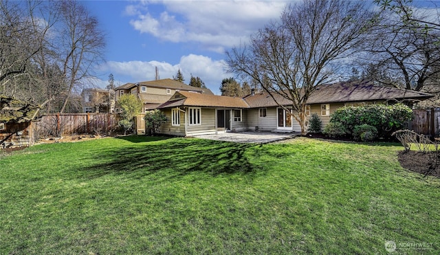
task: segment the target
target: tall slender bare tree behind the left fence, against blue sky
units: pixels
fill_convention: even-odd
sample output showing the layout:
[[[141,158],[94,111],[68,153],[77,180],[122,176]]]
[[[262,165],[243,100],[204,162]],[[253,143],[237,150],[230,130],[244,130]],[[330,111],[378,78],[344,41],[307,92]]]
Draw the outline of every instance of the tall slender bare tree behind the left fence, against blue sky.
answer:
[[[58,52],[62,60],[63,76],[68,89],[60,112],[63,113],[76,86],[92,76],[92,67],[102,60],[105,47],[104,33],[98,19],[78,1],[67,0],[60,4],[60,33]]]

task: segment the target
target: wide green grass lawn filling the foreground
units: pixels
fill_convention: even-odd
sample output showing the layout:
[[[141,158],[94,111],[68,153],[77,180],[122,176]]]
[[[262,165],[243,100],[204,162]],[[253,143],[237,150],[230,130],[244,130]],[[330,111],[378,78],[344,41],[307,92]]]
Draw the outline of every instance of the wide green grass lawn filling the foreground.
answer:
[[[401,168],[401,149],[142,136],[37,145],[0,158],[0,254],[386,254],[386,241],[438,254],[440,180]]]

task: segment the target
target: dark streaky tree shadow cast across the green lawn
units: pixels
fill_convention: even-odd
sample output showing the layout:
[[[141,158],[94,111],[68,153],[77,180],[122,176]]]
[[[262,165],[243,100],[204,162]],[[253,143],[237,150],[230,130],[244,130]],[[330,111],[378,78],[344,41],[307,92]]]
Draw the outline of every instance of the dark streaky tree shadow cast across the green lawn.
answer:
[[[126,139],[138,141],[136,137],[124,138]],[[256,166],[246,155],[248,148],[256,146],[255,144],[196,138],[164,140],[162,137],[157,141],[159,142],[97,151],[93,156],[97,164],[82,168],[83,177],[96,178],[108,174],[123,174],[141,178],[158,171],[166,171],[174,176],[194,171],[212,175],[256,172]]]

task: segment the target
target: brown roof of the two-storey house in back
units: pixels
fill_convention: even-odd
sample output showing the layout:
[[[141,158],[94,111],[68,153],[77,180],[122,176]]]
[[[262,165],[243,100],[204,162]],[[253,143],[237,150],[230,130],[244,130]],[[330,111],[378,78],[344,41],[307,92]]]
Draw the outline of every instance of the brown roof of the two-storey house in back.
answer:
[[[212,91],[210,89],[192,87],[190,85],[186,85],[182,82],[179,82],[178,80],[173,80],[170,78],[162,79],[162,80],[149,80],[149,81],[137,82],[137,83],[126,83],[120,87],[117,87],[115,90],[131,89],[137,85],[144,85],[147,87],[159,87],[159,88],[164,88],[164,89],[181,89],[184,91],[197,91],[199,93],[214,95],[214,93],[212,93]]]

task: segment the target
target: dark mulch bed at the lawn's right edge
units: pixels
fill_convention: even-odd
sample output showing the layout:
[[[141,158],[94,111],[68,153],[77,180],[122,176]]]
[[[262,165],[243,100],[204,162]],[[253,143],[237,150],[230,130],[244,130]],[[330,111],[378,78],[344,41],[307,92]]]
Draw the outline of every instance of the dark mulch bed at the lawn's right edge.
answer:
[[[430,158],[435,157],[434,152],[421,153],[419,151],[400,151],[399,163],[403,168],[422,175],[440,177],[440,166],[430,168]]]

